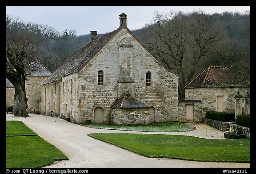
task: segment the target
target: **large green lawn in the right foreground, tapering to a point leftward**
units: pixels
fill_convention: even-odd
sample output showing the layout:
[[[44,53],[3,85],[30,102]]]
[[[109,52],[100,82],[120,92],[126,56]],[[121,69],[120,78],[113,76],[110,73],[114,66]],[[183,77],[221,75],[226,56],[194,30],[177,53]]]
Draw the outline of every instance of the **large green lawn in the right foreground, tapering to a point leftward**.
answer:
[[[150,158],[250,162],[250,139],[203,139],[184,135],[123,133],[93,133],[88,136]]]

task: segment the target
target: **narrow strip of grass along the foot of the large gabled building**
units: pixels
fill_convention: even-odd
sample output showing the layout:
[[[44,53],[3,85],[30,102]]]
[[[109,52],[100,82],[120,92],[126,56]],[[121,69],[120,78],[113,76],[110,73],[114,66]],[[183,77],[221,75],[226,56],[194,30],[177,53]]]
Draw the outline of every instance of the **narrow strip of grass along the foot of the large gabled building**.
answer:
[[[167,122],[167,123],[151,123],[148,125],[116,125],[116,124],[80,124],[90,128],[112,129],[123,131],[152,131],[152,132],[178,132],[191,131],[192,128],[184,123]]]

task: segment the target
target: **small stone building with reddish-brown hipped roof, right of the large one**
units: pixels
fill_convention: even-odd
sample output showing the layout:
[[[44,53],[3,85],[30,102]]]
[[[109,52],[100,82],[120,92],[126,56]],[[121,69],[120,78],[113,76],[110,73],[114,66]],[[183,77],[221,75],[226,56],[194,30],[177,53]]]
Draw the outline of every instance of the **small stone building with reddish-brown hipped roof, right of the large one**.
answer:
[[[202,118],[207,111],[235,113],[235,97],[246,96],[250,90],[250,81],[241,73],[231,67],[209,66],[185,87],[186,101],[192,100],[196,105],[202,105]],[[196,102],[198,100],[198,102]],[[183,101],[183,102],[186,102]],[[196,108],[190,102],[191,108]],[[180,106],[179,106],[180,107]],[[180,108],[181,110],[181,108]],[[190,118],[195,111],[187,113]],[[198,108],[196,110],[198,112]],[[184,118],[184,112],[179,113],[180,118]],[[198,118],[198,116],[197,116]]]

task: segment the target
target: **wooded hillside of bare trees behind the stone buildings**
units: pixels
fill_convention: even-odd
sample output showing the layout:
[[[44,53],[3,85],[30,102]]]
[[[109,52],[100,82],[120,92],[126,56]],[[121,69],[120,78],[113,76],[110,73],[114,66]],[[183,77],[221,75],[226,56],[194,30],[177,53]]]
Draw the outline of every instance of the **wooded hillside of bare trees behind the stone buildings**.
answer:
[[[209,65],[233,66],[250,78],[250,11],[211,15],[203,11],[155,12],[152,23],[132,33],[170,70],[180,74],[179,99],[185,97],[184,86]],[[48,25],[24,23],[6,15],[6,46],[20,37],[32,44],[33,55],[51,72],[90,41],[90,34],[77,36],[75,29],[60,33]]]

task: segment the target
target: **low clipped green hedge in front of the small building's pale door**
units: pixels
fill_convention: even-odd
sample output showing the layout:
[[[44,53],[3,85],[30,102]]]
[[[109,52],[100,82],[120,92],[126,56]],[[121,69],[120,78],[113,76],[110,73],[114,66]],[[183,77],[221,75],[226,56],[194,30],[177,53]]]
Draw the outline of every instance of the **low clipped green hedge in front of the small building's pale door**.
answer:
[[[235,113],[207,111],[206,118],[217,121],[233,122],[235,121]]]

